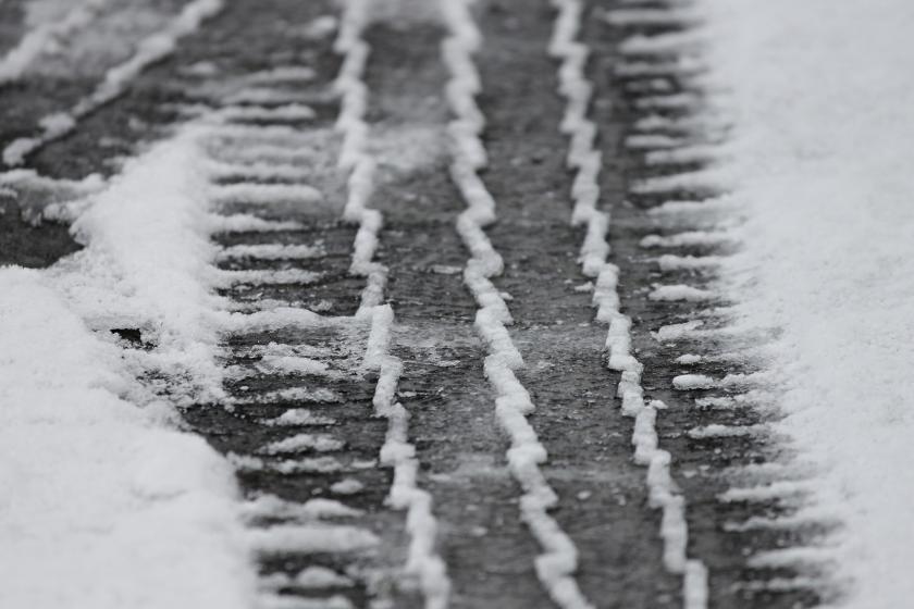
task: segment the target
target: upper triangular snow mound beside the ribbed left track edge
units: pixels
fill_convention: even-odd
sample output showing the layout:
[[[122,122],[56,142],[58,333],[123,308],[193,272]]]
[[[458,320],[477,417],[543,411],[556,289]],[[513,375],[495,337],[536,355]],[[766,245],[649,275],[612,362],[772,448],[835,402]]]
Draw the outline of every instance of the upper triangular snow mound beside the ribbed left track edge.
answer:
[[[220,396],[215,364],[222,300],[200,134],[187,129],[128,162],[73,224],[87,248],[50,270],[94,330],[137,328],[156,349],[139,364],[189,375],[176,401]],[[178,395],[184,394],[184,395]]]

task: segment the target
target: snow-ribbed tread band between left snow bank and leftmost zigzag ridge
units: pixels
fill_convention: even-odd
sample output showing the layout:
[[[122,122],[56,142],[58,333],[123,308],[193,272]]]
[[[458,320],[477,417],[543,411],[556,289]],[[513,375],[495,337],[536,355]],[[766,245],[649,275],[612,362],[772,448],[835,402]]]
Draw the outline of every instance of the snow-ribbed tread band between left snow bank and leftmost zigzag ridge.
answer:
[[[302,84],[307,88],[310,80]],[[273,85],[283,91],[289,87],[286,79]],[[224,137],[239,145],[259,141],[261,152],[322,147],[331,133],[329,126],[270,123],[239,130],[231,119],[212,120],[207,138],[214,151],[222,150]],[[333,207],[311,189],[321,191],[322,182],[343,176],[322,167],[273,165],[273,178],[296,186],[277,198],[276,183],[259,181],[263,172],[256,179],[222,182],[226,163],[240,170],[245,162],[231,156],[219,162],[223,173],[213,185],[213,203],[227,214],[222,217],[240,221],[220,256],[223,294],[240,311],[225,326],[226,397],[187,411],[186,418],[238,469],[249,540],[261,562],[261,606],[365,606],[369,598],[395,594],[388,588],[397,557],[376,552],[382,544],[396,548],[405,539],[399,538],[399,519],[374,513],[388,476],[376,469],[385,425],[370,419],[375,389],[365,353],[383,345],[372,336],[370,319],[314,312],[333,308],[328,291],[350,295],[350,282],[331,279],[309,288],[329,266],[323,260],[328,249],[346,243],[313,225],[313,217],[331,214]],[[237,196],[235,187],[242,184],[246,189]],[[299,196],[302,191],[307,196]],[[272,209],[264,213],[264,206]],[[283,219],[271,219],[277,211]],[[328,236],[335,240],[329,244]],[[348,258],[347,252],[339,257]],[[268,287],[274,298],[260,298]]]

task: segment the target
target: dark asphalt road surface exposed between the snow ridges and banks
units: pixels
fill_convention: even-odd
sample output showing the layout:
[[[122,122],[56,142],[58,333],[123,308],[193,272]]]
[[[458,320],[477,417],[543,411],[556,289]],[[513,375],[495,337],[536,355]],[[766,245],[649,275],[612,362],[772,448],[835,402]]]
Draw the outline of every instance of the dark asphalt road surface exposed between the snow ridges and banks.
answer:
[[[0,8],[0,52],[26,30],[25,3]],[[155,10],[139,4],[104,5],[59,41],[59,53],[39,57],[22,77],[0,85],[0,147],[39,135],[42,117],[91,96],[106,71],[129,58],[129,41],[162,27],[163,15],[176,14],[185,2],[156,2]],[[701,109],[701,70],[677,63],[681,47],[639,54],[623,45],[638,35],[684,35],[690,24],[676,18],[678,2],[591,0],[581,3],[577,32],[589,48],[583,75],[592,85],[592,151],[602,154],[596,207],[610,219],[606,239],[608,261],[618,268],[619,310],[632,322],[631,350],[643,365],[645,401],[656,406],[656,435],[670,456],[683,527],[651,500],[649,468],[634,459],[635,418],[626,415],[617,397],[620,371],[607,365],[607,326],[592,306],[595,277],[579,260],[586,227],[570,222],[577,172],[567,163],[572,139],[559,128],[569,98],[558,86],[563,59],[548,52],[557,5],[477,2],[469,14],[481,45],[468,57],[479,75],[472,99],[484,117],[479,135],[487,153],[478,176],[497,216],[482,232],[503,260],[489,279],[512,318],[505,327],[524,362],[514,374],[535,406],[529,428],[548,455],[538,467],[540,483],[557,500],[543,513],[576,548],[567,581],[593,607],[704,606],[697,588],[683,585],[681,567],[665,558],[675,551],[676,532],[688,530],[684,554],[707,572],[706,606],[815,606],[822,598],[800,577],[808,574],[754,560],[766,550],[802,547],[827,526],[765,525],[789,515],[794,504],[764,488],[794,482],[795,472],[776,465],[781,449],[765,433],[777,412],[756,403],[753,378],[764,370],[728,357],[727,302],[713,290],[701,291],[714,285],[713,264],[681,263],[732,248],[707,239],[664,240],[690,226],[659,206],[700,204],[713,192],[679,183],[641,186],[645,178],[703,167],[697,153],[663,163],[649,162],[652,153],[656,160],[658,151],[675,147],[700,149],[720,135],[690,122]],[[428,556],[440,557],[446,569],[450,607],[579,606],[551,594],[548,574],[536,569],[548,544],[522,515],[530,481],[507,461],[517,438],[499,419],[501,389],[484,368],[493,347],[474,324],[482,306],[465,282],[473,252],[457,229],[469,204],[454,171],[464,153],[453,137],[461,109],[448,88],[459,74],[443,53],[455,22],[432,2],[367,7],[356,35],[369,52],[356,76],[367,94],[362,153],[375,164],[368,207],[383,216],[371,252],[381,265],[372,269],[384,279],[374,306],[390,304],[395,319],[386,356],[402,366],[395,401],[408,413],[416,488],[431,499],[437,525]],[[338,123],[346,99],[338,76],[348,55],[334,45],[347,10],[351,4],[330,0],[227,2],[116,96],[78,116],[71,130],[24,157],[20,169],[58,183],[0,195],[0,263],[48,266],[78,249],[65,224],[35,211],[66,197],[60,181],[114,175],[124,158],[169,137],[177,125],[228,116],[207,147],[209,159],[224,169],[215,184],[226,187],[213,204],[226,215],[249,213],[275,224],[213,235],[223,252],[219,266],[238,272],[222,294],[238,311],[283,306],[329,321],[227,333],[226,399],[184,406],[182,412],[236,463],[247,496],[287,502],[264,504],[263,512],[251,515],[250,526],[264,531],[264,538],[270,531],[280,535],[283,510],[294,512],[307,501],[333,499],[349,508],[317,525],[348,531],[350,543],[343,546],[296,547],[293,533],[284,543],[264,544],[261,580],[274,600],[282,599],[276,602],[423,607],[443,597],[421,570],[403,570],[416,536],[407,510],[388,498],[394,468],[381,451],[393,419],[379,415],[373,405],[384,369],[363,360],[378,330],[371,312],[365,314],[371,272],[351,268],[366,223],[344,216],[354,183],[351,166],[337,162],[347,137]],[[305,185],[318,195],[296,189]],[[264,197],[274,204],[262,204]],[[688,285],[697,296],[665,298],[659,285]],[[354,321],[333,322],[341,319]],[[695,320],[701,331],[695,323],[674,326]],[[665,326],[666,334],[657,334]],[[134,348],[155,348],[128,332],[124,336]],[[687,353],[696,357],[682,359]],[[288,358],[307,360],[310,368],[284,365]],[[689,383],[682,374],[731,381]],[[174,383],[180,380],[163,381],[165,395]],[[281,444],[302,433],[310,439]],[[750,487],[762,492],[740,492]],[[339,581],[317,588],[295,582],[314,566]]]

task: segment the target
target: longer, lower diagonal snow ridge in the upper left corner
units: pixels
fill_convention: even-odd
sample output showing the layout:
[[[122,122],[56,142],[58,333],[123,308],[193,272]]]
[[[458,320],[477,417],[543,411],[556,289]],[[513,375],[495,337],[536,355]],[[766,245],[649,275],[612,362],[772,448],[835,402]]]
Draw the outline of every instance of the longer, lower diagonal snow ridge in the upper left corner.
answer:
[[[193,0],[163,30],[141,40],[133,57],[111,67],[88,97],[83,98],[69,111],[41,119],[40,135],[18,138],[9,144],[3,149],[3,162],[8,165],[21,165],[28,154],[70,134],[87,114],[121,96],[131,82],[149,65],[174,52],[180,38],[193,34],[203,20],[215,15],[222,7],[223,0]]]

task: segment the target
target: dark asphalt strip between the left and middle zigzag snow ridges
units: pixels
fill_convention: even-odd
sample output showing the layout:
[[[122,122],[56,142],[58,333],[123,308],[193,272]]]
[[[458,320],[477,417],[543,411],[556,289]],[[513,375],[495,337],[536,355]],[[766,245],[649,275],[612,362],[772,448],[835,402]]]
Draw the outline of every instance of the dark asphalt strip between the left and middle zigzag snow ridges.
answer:
[[[404,362],[398,398],[410,412],[421,486],[434,496],[452,606],[551,607],[534,573],[536,544],[517,518],[472,327],[475,303],[460,281],[466,251],[454,223],[464,204],[447,171],[444,35],[435,4],[367,33],[375,49],[367,75],[373,199],[385,216],[379,257],[391,270],[394,349]]]

